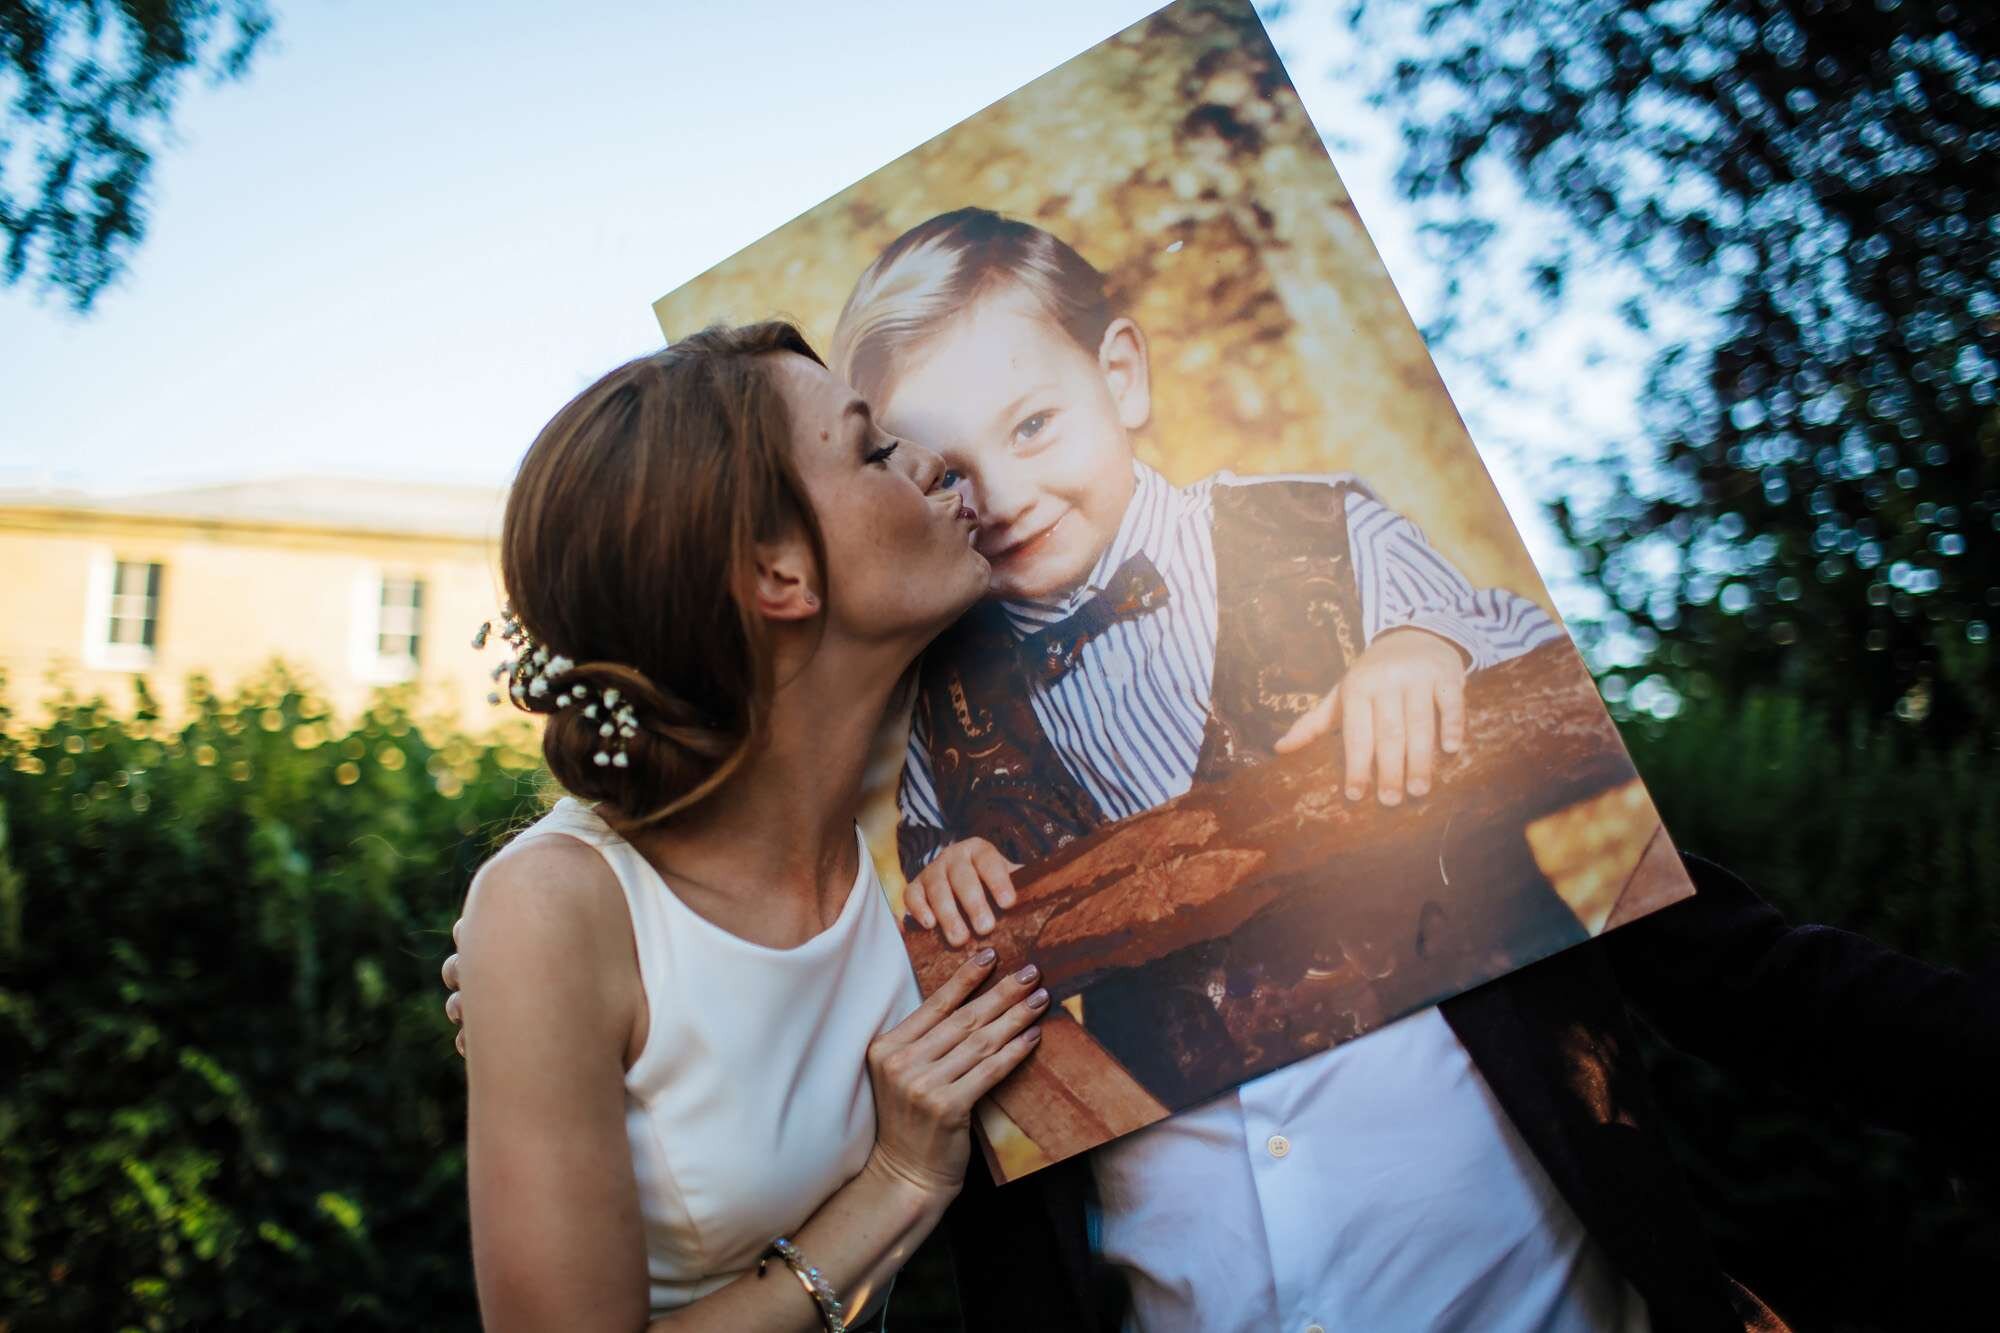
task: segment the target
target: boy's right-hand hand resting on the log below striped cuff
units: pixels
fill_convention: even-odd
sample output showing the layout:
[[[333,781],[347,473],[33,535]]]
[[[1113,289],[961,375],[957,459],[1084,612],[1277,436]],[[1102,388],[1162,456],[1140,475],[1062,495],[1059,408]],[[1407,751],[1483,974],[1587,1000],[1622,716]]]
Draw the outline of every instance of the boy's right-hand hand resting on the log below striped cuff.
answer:
[[[1392,628],[1376,634],[1334,693],[1312,705],[1278,741],[1278,753],[1324,737],[1346,737],[1348,801],[1368,795],[1374,765],[1376,799],[1402,803],[1430,793],[1436,751],[1456,755],[1466,741],[1466,656],[1430,630]]]

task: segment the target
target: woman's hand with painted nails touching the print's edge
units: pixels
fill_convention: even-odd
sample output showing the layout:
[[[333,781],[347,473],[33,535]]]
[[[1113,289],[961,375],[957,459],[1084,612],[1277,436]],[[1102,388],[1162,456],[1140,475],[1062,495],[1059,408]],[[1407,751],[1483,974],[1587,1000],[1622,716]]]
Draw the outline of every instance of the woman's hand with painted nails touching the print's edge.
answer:
[[[868,1165],[934,1197],[956,1195],[972,1151],[972,1107],[1028,1059],[1048,991],[1030,963],[974,999],[994,967],[980,949],[868,1047],[876,1147]]]

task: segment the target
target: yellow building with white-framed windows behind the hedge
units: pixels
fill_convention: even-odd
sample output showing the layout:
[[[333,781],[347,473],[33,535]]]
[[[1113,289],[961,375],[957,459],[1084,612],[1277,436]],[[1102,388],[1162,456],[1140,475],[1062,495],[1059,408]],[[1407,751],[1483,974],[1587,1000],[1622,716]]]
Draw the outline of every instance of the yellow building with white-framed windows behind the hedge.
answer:
[[[116,707],[132,681],[178,711],[282,660],[342,717],[384,685],[486,731],[506,492],[288,478],[118,498],[0,492],[0,671],[34,717],[62,681]]]

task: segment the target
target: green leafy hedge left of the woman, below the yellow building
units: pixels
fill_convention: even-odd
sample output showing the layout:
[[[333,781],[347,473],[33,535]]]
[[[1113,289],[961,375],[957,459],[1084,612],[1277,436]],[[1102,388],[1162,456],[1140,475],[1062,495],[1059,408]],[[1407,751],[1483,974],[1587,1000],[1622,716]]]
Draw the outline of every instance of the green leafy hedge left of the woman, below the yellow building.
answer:
[[[438,965],[532,761],[282,673],[0,747],[6,1327],[476,1327]]]

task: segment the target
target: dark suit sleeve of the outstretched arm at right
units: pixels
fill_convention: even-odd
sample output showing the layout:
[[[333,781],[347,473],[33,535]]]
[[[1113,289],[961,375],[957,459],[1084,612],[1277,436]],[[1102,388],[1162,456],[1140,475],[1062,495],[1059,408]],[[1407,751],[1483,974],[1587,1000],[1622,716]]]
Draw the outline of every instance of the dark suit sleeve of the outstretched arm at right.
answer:
[[[1970,977],[1834,927],[1788,925],[1712,861],[1696,895],[1602,939],[1666,1041],[1920,1135],[2000,1179],[2000,969]]]

